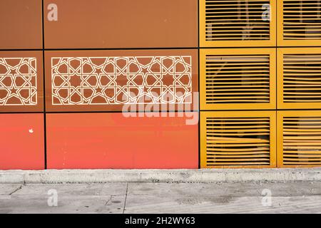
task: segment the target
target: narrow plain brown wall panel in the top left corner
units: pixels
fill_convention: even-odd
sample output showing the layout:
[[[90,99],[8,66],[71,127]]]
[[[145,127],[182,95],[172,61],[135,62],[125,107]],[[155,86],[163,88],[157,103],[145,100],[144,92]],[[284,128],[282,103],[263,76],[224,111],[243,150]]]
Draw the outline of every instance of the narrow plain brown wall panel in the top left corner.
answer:
[[[41,0],[1,0],[0,31],[0,49],[42,48]]]

